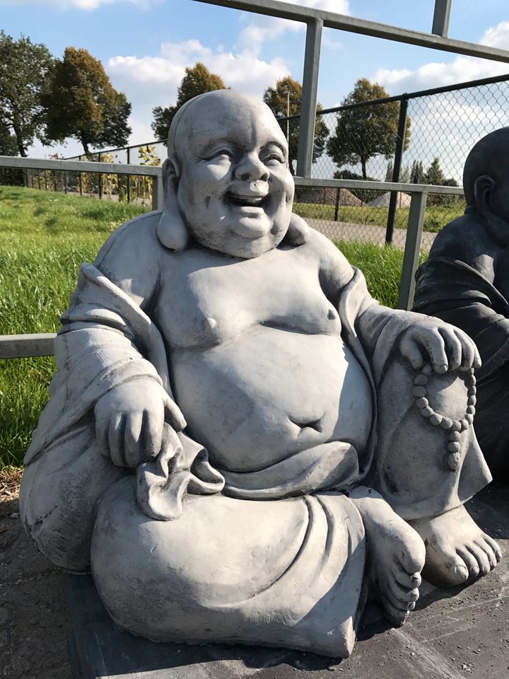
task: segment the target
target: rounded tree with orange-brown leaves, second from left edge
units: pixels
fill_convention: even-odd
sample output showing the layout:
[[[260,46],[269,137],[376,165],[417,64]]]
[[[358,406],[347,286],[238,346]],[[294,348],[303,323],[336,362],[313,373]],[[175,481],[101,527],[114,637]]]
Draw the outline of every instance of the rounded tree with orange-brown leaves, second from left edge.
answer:
[[[42,101],[47,108],[49,139],[78,139],[86,156],[92,146],[127,144],[131,104],[112,86],[99,59],[87,50],[66,47]]]

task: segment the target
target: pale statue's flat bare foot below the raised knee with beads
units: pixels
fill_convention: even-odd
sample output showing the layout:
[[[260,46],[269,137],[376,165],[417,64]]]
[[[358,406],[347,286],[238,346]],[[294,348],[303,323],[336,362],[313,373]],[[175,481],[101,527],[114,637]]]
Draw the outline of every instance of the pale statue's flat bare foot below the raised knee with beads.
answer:
[[[434,585],[461,585],[486,575],[501,560],[501,548],[483,533],[463,505],[410,523],[426,545],[423,575]]]

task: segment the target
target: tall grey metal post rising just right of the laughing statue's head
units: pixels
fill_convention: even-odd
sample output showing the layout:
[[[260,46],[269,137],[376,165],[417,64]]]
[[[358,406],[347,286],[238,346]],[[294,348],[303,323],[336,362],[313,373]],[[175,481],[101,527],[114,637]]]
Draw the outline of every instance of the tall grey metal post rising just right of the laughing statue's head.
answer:
[[[299,143],[297,151],[298,177],[311,176],[312,151],[315,141],[318,69],[322,43],[322,19],[308,23],[304,56],[303,96],[300,103]]]

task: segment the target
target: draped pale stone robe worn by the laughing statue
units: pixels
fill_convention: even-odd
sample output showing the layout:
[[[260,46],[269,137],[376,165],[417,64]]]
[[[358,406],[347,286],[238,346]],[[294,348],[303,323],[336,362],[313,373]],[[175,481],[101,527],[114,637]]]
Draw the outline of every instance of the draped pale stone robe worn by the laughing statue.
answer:
[[[157,219],[143,216],[124,231],[143,228],[155,241]],[[122,229],[108,248],[119,238]],[[349,489],[368,480],[404,518],[419,518],[458,506],[489,481],[472,431],[451,472],[447,434],[414,407],[415,373],[397,347],[423,317],[379,306],[356,269],[346,279],[342,337],[373,400],[364,450],[331,441],[269,468],[219,472],[199,441],[166,426],[158,458],[131,472],[98,451],[93,407],[141,376],[171,396],[168,352],[100,261],[81,267],[55,342],[51,398],[25,458],[21,513],[54,563],[84,571],[91,562],[119,625],[158,640],[238,639],[346,656],[365,599],[366,557]],[[447,393],[452,401],[464,395],[455,376],[436,380],[445,409]]]

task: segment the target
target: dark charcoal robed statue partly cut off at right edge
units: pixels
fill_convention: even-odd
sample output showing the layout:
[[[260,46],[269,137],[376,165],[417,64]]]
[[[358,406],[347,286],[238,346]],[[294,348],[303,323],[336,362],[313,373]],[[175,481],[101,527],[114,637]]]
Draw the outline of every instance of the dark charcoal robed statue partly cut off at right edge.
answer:
[[[464,166],[465,214],[438,234],[416,274],[414,309],[476,342],[475,431],[496,480],[509,481],[509,127],[487,134]]]

